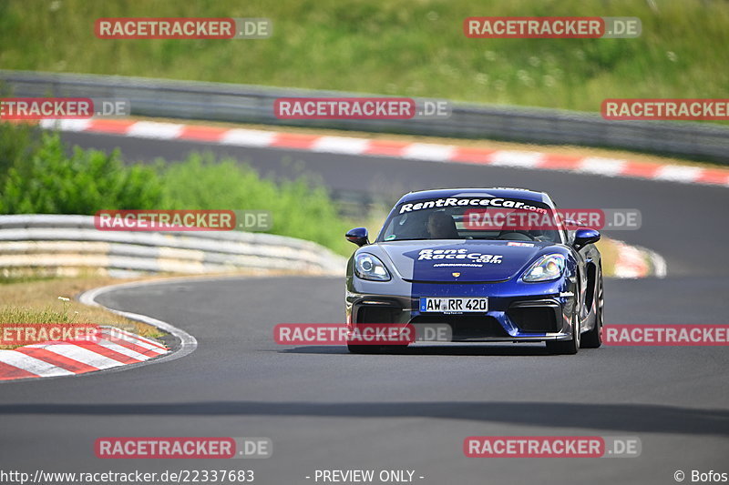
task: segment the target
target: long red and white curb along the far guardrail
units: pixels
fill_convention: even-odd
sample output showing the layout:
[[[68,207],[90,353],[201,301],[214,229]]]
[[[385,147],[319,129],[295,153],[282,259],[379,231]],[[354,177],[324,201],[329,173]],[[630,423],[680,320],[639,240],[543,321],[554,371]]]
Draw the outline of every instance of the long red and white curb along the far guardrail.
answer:
[[[729,168],[704,168],[688,165],[637,162],[622,158],[579,157],[537,151],[494,150],[457,145],[411,143],[406,141],[319,136],[302,133],[226,128],[221,126],[182,125],[126,119],[46,119],[45,128],[61,131],[106,133],[118,136],[164,140],[200,141],[239,147],[272,147],[370,157],[393,157],[432,162],[453,162],[539,170],[630,177],[729,187]]]

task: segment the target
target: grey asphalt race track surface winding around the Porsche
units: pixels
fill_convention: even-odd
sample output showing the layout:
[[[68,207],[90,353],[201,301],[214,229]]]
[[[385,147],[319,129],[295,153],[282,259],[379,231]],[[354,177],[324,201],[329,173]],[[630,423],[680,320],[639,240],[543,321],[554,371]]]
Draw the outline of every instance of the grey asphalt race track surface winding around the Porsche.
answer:
[[[725,187],[503,167],[67,134],[130,160],[210,149],[262,173],[319,174],[337,190],[395,197],[431,187],[532,187],[560,207],[637,207],[642,229],[610,236],[658,251],[668,278],[607,280],[606,323],[727,322]],[[374,227],[370,228],[374,230]],[[354,247],[353,247],[354,248]],[[98,298],[199,341],[170,362],[0,390],[5,470],[255,470],[256,483],[314,483],[315,470],[415,470],[430,484],[675,483],[729,471],[729,354],[721,347],[602,347],[549,356],[539,345],[418,347],[349,355],[277,346],[278,323],[343,321],[341,278],[222,278]],[[631,459],[477,459],[473,435],[635,436]],[[98,460],[118,436],[268,437],[266,460]],[[306,479],[312,477],[312,479]],[[424,477],[420,479],[419,477]],[[321,481],[320,481],[321,483]]]

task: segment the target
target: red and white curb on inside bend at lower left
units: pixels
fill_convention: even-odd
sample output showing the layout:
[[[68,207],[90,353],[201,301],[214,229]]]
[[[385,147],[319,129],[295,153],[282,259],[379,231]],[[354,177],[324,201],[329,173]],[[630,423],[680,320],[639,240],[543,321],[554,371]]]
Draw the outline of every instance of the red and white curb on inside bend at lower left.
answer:
[[[102,327],[95,340],[48,341],[0,350],[0,380],[73,376],[139,364],[169,352],[162,343]]]

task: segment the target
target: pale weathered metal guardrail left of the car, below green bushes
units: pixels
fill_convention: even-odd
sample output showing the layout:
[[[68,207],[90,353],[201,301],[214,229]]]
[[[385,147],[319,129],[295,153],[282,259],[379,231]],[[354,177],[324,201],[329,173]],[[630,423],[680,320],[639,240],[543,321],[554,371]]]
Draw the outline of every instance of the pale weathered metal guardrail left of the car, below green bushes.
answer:
[[[230,231],[101,231],[93,216],[0,216],[0,272],[105,268],[151,273],[274,269],[344,274],[345,259],[311,241]]]

